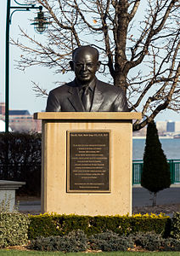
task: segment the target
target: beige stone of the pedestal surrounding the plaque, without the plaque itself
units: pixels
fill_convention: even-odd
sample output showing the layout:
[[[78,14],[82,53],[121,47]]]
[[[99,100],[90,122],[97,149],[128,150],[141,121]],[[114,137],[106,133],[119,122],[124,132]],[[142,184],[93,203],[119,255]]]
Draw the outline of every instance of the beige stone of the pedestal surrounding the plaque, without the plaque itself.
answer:
[[[42,119],[43,134],[42,212],[131,214],[132,119],[140,116],[140,113],[37,113],[36,118]],[[67,193],[68,131],[110,131],[109,193]]]

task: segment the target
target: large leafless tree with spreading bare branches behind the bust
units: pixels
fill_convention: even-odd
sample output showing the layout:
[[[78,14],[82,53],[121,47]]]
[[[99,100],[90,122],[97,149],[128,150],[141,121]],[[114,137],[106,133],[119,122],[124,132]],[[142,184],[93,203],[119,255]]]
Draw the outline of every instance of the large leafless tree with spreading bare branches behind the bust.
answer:
[[[131,111],[143,113],[143,119],[133,124],[134,131],[166,108],[180,109],[178,0],[37,0],[37,3],[47,10],[52,24],[43,44],[23,30],[22,36],[29,43],[13,41],[24,51],[18,61],[21,69],[40,65],[54,68],[56,73],[66,73],[70,71],[72,49],[92,44],[102,56],[101,72],[126,91]],[[139,9],[144,15],[139,14]],[[143,17],[141,20],[139,15]]]

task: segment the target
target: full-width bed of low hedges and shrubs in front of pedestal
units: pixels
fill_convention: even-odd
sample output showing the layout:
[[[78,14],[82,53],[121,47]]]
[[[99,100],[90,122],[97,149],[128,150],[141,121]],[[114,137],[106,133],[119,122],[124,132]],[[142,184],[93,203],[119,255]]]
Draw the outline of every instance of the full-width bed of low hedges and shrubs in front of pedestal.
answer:
[[[179,214],[175,213],[177,218]],[[180,251],[180,240],[168,237],[170,229],[171,218],[162,214],[90,217],[0,212],[0,247],[22,245],[33,239],[31,248],[42,251],[127,251],[133,245],[149,251]]]

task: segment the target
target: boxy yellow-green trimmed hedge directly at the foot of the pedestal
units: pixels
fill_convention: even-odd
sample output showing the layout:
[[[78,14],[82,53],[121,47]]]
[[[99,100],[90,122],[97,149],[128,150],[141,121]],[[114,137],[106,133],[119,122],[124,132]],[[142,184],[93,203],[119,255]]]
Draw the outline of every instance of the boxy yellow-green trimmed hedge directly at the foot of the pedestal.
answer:
[[[171,218],[164,215],[136,214],[130,216],[78,216],[41,214],[30,216],[28,236],[65,236],[73,230],[83,230],[87,236],[111,230],[117,234],[128,236],[137,232],[155,231],[156,234],[169,236]]]

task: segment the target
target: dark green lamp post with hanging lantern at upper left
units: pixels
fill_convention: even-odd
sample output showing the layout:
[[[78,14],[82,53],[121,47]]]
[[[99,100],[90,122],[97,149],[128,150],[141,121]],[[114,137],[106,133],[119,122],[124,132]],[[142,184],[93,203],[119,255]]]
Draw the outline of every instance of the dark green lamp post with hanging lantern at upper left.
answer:
[[[8,132],[8,123],[9,123],[9,26],[11,24],[12,15],[16,11],[30,11],[31,9],[39,9],[37,18],[35,22],[32,23],[35,26],[37,32],[44,32],[48,26],[48,21],[44,17],[42,12],[42,6],[36,6],[36,4],[23,4],[18,3],[17,0],[14,0],[16,6],[11,6],[11,0],[7,0],[7,16],[6,16],[6,64],[5,64],[5,132]],[[11,12],[11,10],[13,10]]]

